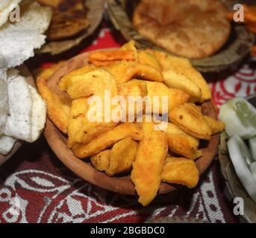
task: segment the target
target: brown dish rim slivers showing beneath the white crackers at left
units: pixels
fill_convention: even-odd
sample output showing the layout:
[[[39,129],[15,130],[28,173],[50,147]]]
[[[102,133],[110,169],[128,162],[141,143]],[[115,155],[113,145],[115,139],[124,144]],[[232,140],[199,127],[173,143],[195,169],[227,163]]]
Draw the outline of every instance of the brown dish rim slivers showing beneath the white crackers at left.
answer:
[[[31,86],[35,87],[34,84],[34,79],[31,75],[31,73],[28,71],[28,68],[25,67],[25,65],[21,65],[18,67],[19,69],[19,73],[23,76],[26,77],[28,80],[28,83],[31,84]],[[8,153],[7,155],[0,155],[0,166],[1,164],[4,164],[4,162],[6,162],[11,156],[14,155],[14,153],[19,149],[19,147],[22,146],[22,141],[17,141],[14,146],[13,149],[10,151],[10,153]]]

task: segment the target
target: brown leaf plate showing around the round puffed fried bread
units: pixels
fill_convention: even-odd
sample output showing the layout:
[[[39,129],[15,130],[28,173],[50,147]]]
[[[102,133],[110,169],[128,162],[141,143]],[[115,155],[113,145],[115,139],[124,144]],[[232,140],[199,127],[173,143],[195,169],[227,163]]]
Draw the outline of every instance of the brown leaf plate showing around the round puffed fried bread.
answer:
[[[120,30],[125,39],[134,39],[138,48],[153,48],[166,51],[154,45],[153,42],[141,36],[131,22],[131,16],[140,0],[107,0],[107,10],[114,27]],[[229,10],[233,10],[237,0],[222,0]],[[190,60],[203,73],[219,72],[237,68],[249,56],[255,36],[243,25],[234,25],[228,42],[211,57],[199,60]],[[166,51],[172,54],[169,51]]]

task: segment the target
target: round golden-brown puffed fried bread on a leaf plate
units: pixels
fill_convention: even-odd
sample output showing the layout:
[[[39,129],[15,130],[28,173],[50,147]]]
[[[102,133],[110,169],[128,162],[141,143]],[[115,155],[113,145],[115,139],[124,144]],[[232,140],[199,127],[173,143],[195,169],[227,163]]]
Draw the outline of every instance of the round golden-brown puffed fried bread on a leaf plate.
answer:
[[[228,40],[231,25],[218,0],[143,0],[133,24],[154,44],[187,58],[215,54]]]

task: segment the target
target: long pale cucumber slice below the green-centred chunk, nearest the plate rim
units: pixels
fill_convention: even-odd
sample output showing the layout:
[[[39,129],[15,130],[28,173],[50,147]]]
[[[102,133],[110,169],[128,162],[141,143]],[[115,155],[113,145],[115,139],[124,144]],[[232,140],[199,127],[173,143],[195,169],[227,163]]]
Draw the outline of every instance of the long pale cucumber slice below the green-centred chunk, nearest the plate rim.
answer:
[[[238,135],[233,135],[228,140],[228,152],[243,187],[256,202],[256,181],[250,170],[253,160],[248,147]],[[255,165],[252,167],[252,170],[254,169]]]

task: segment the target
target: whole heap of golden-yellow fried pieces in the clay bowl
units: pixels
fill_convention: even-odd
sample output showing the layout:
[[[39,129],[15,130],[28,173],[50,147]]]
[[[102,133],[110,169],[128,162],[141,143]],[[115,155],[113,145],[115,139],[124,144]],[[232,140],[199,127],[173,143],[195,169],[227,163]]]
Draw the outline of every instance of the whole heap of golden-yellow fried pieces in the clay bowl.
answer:
[[[66,133],[67,147],[107,176],[131,173],[144,206],[157,195],[161,180],[195,187],[200,139],[224,129],[202,114],[200,103],[211,97],[202,75],[183,58],[137,51],[134,41],[116,51],[92,52],[89,59],[60,78],[62,95],[42,78],[51,69],[37,79],[49,119]]]

